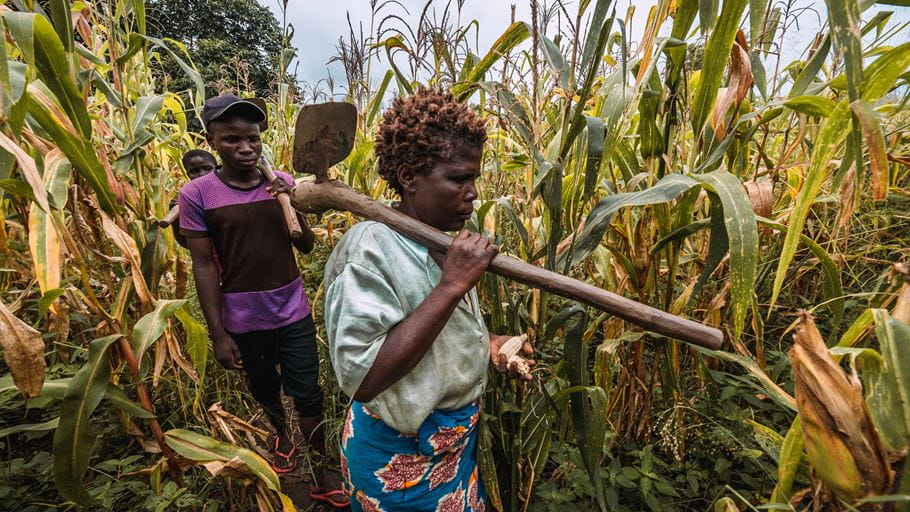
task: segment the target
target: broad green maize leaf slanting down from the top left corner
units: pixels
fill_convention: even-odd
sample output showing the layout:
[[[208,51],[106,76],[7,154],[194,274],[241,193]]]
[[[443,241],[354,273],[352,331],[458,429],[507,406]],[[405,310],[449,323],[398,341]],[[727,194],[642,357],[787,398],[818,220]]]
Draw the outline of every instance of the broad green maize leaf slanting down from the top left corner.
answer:
[[[4,16],[16,42],[33,45],[31,55],[23,51],[26,62],[38,71],[41,81],[53,92],[79,135],[90,140],[92,124],[88,110],[82,94],[70,78],[66,51],[54,27],[47,19],[33,13],[7,12]],[[26,42],[30,38],[33,42]]]

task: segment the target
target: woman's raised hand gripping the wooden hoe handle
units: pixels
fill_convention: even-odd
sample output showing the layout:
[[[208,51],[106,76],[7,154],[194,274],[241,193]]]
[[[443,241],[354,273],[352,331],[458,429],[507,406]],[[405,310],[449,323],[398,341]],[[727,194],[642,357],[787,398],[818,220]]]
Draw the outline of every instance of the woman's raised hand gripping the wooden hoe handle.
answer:
[[[468,293],[497,254],[499,248],[489,239],[470,231],[458,233],[446,254],[440,284],[450,287],[458,296]]]

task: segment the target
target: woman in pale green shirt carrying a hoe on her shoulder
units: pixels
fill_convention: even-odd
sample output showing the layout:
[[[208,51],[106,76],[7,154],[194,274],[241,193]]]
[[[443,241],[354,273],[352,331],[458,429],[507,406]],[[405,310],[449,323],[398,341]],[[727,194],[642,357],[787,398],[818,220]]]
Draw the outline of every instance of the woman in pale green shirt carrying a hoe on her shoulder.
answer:
[[[483,121],[451,94],[397,98],[376,154],[399,210],[461,230],[485,140]],[[429,253],[376,222],[354,226],[332,252],[325,318],[335,375],[354,398],[341,450],[353,510],[484,509],[479,402],[488,361],[506,371],[498,351],[509,336],[487,331],[474,286],[496,254],[467,231],[447,255]]]

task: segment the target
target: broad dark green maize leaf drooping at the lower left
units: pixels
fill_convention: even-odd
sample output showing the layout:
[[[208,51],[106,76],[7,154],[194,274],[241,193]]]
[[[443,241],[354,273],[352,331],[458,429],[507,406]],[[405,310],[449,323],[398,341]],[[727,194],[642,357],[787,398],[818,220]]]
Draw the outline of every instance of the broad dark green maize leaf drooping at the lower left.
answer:
[[[82,484],[95,444],[89,418],[107,390],[111,373],[108,348],[120,338],[114,334],[89,345],[88,361],[73,376],[60,404],[60,424],[54,434],[54,483],[61,495],[82,506],[92,503]]]

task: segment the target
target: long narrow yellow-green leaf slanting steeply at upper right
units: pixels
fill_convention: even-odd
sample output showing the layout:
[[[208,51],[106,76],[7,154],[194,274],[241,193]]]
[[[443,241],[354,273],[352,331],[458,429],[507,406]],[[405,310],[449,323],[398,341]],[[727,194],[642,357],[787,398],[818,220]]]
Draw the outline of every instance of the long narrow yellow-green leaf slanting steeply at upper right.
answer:
[[[850,118],[849,103],[847,103],[847,100],[842,100],[837,104],[837,108],[834,109],[828,120],[825,121],[818,137],[815,139],[815,147],[812,149],[812,163],[809,165],[803,188],[799,191],[796,204],[790,213],[787,236],[784,239],[780,260],[777,263],[774,288],[771,294],[772,306],[777,302],[781,286],[783,286],[784,279],[787,276],[787,268],[789,268],[790,262],[793,261],[793,256],[796,254],[796,249],[799,246],[799,237],[802,234],[803,227],[806,225],[806,218],[809,216],[809,208],[815,202],[822,183],[828,177],[828,165],[847,137]]]

